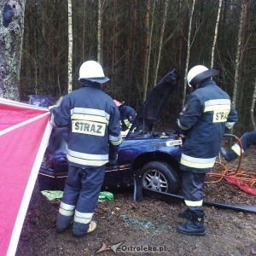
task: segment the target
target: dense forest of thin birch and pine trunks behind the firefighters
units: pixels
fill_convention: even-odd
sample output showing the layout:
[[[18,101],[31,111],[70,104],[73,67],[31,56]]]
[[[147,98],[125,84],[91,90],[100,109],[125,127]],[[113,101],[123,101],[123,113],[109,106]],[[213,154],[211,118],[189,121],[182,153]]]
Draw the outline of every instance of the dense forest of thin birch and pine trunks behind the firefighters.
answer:
[[[8,83],[0,83],[3,97],[14,98],[8,93],[16,86],[16,100],[27,102],[28,96],[35,94],[57,100],[79,88],[80,65],[94,60],[102,64],[110,79],[103,90],[138,110],[154,85],[175,68],[180,75],[179,87],[158,124],[169,127],[191,92],[185,79],[189,68],[201,64],[220,71],[214,80],[229,93],[239,113],[236,135],[256,129],[255,0],[0,3],[1,7],[9,3],[17,13],[20,6],[20,15],[15,13],[13,21],[21,20],[21,27],[24,22],[20,67],[13,65],[18,73],[16,83],[7,89]],[[11,26],[1,30],[14,34]],[[2,63],[1,69],[3,74]]]

